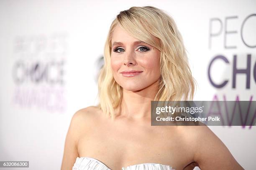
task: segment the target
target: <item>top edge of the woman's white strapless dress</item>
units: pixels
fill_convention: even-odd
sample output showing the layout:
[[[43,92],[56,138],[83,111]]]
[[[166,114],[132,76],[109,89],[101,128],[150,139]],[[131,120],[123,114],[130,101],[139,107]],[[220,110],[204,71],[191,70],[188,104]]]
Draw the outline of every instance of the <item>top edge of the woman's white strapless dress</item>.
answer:
[[[77,157],[72,170],[111,170],[107,165],[95,158]],[[159,163],[141,163],[123,167],[122,170],[175,170],[169,165]]]

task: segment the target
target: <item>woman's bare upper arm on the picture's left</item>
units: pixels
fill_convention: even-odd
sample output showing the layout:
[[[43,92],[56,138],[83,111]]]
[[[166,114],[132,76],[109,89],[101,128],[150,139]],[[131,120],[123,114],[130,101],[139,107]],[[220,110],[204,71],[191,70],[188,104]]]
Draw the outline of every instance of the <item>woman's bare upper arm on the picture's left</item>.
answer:
[[[79,140],[79,135],[81,131],[82,117],[83,112],[79,110],[73,115],[72,120],[70,122],[65,140],[61,170],[72,170],[76,158],[79,157],[77,151],[77,142]]]

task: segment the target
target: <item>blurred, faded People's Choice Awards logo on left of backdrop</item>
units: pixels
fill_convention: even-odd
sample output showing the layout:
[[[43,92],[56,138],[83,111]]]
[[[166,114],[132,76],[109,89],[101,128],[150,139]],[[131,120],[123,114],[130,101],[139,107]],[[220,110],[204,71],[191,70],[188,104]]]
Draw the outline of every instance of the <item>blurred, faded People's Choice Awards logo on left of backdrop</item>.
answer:
[[[13,103],[22,108],[65,112],[67,34],[16,36],[13,41]]]

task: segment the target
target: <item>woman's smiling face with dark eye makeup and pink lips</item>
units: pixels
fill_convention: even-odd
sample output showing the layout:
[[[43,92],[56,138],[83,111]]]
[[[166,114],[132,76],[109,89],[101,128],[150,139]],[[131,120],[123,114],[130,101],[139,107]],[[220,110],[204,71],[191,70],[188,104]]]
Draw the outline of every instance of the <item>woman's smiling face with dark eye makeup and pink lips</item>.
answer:
[[[156,41],[159,41],[156,38]],[[125,90],[138,91],[157,83],[160,51],[116,26],[111,39],[111,67],[115,81]]]

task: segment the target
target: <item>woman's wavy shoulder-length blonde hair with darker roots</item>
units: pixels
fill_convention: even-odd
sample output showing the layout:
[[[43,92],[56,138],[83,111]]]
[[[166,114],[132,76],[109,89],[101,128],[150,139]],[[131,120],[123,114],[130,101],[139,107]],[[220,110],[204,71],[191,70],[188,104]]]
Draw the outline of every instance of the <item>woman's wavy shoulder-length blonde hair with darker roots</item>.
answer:
[[[182,36],[174,20],[162,10],[152,7],[131,7],[121,11],[113,20],[105,42],[104,62],[98,78],[99,104],[103,112],[115,117],[114,110],[120,106],[123,88],[115,81],[111,65],[111,39],[113,30],[119,25],[133,37],[157,48],[161,52],[161,76],[159,91],[154,100],[192,100],[195,79],[188,65]],[[154,40],[160,40],[160,44]]]

